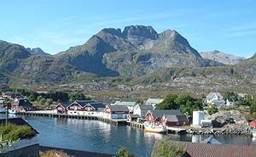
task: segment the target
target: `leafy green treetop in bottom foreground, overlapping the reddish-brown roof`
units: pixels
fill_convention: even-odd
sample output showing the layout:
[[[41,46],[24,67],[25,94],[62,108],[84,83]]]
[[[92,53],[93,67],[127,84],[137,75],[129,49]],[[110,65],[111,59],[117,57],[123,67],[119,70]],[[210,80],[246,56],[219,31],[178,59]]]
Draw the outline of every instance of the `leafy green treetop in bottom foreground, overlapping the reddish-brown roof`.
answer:
[[[170,143],[169,138],[165,136],[155,144],[151,157],[181,157],[185,152],[185,149],[177,143]]]

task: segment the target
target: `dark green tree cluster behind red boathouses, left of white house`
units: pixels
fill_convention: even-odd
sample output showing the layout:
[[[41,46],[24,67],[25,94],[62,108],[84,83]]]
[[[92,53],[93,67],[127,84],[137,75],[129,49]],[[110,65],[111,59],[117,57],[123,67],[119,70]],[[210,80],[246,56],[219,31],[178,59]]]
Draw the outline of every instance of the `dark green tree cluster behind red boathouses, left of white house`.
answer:
[[[157,104],[156,109],[181,109],[183,114],[192,116],[194,110],[202,109],[202,103],[200,98],[169,94],[162,103]]]

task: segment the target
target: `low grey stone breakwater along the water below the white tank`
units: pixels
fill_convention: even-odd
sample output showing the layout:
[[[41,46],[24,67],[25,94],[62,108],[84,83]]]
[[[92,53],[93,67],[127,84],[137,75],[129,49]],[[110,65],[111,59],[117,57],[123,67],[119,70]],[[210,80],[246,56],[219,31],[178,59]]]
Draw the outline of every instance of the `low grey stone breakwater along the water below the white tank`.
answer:
[[[224,128],[224,129],[209,129],[209,130],[193,130],[186,131],[188,134],[201,135],[201,134],[214,134],[214,135],[251,135],[252,132],[248,127],[245,128]]]

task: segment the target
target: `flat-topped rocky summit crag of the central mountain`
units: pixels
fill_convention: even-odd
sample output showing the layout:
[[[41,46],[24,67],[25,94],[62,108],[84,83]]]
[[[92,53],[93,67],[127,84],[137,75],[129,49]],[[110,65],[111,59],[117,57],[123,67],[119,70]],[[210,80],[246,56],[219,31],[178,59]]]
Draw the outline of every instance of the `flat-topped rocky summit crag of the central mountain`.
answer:
[[[145,38],[156,40],[158,38],[157,32],[152,26],[145,25],[130,25],[125,26],[122,32],[123,36],[129,38],[130,36],[142,36]]]

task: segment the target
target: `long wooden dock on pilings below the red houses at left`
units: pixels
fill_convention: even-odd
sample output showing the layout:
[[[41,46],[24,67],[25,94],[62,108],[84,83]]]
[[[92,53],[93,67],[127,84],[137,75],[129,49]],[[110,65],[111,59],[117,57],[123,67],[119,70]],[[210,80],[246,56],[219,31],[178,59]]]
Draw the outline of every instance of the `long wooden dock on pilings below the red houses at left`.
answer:
[[[106,119],[100,116],[90,116],[90,115],[67,115],[67,114],[55,114],[52,111],[27,111],[20,112],[20,115],[29,115],[29,116],[47,116],[47,117],[56,117],[56,118],[74,118],[80,120],[97,120],[104,121],[113,125],[126,125],[127,122],[124,119]]]

